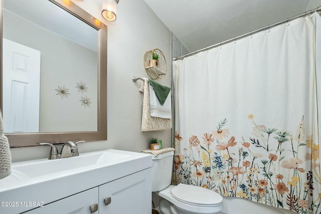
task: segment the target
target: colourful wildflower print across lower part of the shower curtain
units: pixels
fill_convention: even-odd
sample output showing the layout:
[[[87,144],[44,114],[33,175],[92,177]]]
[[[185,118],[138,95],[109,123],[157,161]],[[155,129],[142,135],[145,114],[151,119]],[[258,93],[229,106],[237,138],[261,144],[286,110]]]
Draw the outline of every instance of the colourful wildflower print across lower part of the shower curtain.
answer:
[[[318,210],[320,195],[315,201],[309,196],[313,183],[321,182],[319,147],[305,133],[304,116],[293,132],[257,125],[253,114],[248,122],[253,130],[241,139],[230,133],[227,118],[202,136],[184,139],[176,132],[176,147],[189,142],[175,155],[176,181],[297,213]]]

